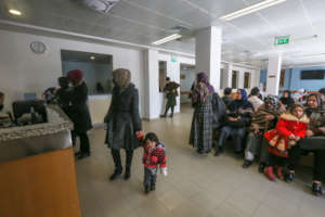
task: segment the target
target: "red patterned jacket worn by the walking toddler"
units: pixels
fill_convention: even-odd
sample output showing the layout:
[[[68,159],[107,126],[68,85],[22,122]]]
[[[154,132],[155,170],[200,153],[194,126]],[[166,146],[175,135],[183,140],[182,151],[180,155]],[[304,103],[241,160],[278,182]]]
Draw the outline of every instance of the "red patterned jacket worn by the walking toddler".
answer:
[[[143,164],[146,168],[160,168],[167,167],[167,157],[165,155],[164,144],[157,144],[154,149],[148,149],[143,145]]]

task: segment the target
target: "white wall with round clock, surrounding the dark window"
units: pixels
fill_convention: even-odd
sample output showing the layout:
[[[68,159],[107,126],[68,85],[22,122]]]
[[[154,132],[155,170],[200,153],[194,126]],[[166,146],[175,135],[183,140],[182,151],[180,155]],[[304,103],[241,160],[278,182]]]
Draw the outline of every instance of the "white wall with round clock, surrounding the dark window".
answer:
[[[32,53],[29,49],[32,41],[42,41],[48,51],[44,54]],[[143,106],[142,51],[6,30],[0,30],[0,91],[6,94],[6,108],[12,101],[21,100],[24,92],[37,92],[41,97],[47,88],[56,86],[57,77],[62,76],[61,49],[112,54],[114,68],[131,71],[132,82],[139,88]],[[108,107],[96,108],[107,111]],[[102,122],[100,118],[93,122]]]

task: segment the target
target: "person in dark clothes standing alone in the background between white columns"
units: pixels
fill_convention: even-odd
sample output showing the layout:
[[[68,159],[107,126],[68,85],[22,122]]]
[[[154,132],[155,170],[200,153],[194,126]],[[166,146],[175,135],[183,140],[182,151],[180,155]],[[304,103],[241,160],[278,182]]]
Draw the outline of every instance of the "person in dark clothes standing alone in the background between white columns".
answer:
[[[164,92],[166,94],[167,103],[166,103],[166,110],[165,114],[160,117],[166,117],[169,108],[171,108],[171,115],[170,117],[173,117],[173,110],[177,104],[176,98],[178,97],[178,88],[180,87],[179,84],[170,81],[170,78],[166,78],[166,86],[164,88]]]

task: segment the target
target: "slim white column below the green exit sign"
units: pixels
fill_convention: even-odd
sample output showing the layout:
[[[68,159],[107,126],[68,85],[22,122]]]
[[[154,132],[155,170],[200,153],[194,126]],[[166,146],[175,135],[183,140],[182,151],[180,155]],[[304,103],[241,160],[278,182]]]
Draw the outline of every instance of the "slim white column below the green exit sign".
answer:
[[[268,77],[266,77],[266,93],[278,94],[278,85],[281,76],[282,53],[269,58]]]

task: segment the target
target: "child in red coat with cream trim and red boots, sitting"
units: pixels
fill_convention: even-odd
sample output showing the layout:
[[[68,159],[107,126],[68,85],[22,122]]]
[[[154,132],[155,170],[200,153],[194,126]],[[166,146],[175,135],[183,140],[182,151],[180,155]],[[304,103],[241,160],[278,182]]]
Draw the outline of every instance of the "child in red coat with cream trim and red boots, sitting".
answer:
[[[303,112],[301,104],[295,104],[288,113],[281,115],[275,129],[264,133],[269,146],[269,165],[264,169],[265,176],[270,180],[275,180],[273,168],[276,169],[276,176],[284,179],[283,166],[289,156],[288,151],[300,139],[304,138],[309,118]]]

